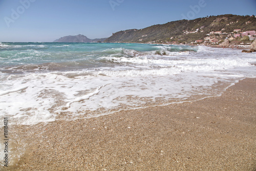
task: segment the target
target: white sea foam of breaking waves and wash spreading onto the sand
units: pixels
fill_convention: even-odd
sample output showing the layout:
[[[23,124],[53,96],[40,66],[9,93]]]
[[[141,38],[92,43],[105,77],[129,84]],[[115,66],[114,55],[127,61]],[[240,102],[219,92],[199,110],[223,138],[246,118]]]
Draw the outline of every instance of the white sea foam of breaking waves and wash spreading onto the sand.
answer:
[[[118,110],[219,96],[224,88],[238,80],[255,77],[256,69],[252,65],[256,63],[255,55],[242,54],[240,50],[156,47],[160,52],[165,51],[165,55],[156,54],[157,50],[109,48],[95,59],[97,65],[103,61],[105,66],[46,73],[3,73],[0,75],[1,117],[27,125],[90,118]],[[174,48],[193,49],[175,52]],[[35,59],[37,52],[40,58],[49,53],[33,49],[18,53],[22,53],[25,61],[31,58],[29,53]],[[74,61],[72,65],[79,62]],[[48,65],[28,64],[10,70],[36,70],[43,66]]]

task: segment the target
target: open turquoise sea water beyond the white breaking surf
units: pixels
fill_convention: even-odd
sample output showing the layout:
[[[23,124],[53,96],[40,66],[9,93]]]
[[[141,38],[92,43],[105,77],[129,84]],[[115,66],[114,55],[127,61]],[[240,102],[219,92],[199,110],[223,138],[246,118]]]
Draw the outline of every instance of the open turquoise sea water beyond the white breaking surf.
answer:
[[[197,48],[168,46],[167,49],[167,52],[182,51],[197,51]],[[161,54],[164,51],[150,44],[4,43],[0,49],[0,68],[2,72],[25,72],[36,69],[47,72],[113,67],[115,64],[102,57],[135,58],[143,53]]]

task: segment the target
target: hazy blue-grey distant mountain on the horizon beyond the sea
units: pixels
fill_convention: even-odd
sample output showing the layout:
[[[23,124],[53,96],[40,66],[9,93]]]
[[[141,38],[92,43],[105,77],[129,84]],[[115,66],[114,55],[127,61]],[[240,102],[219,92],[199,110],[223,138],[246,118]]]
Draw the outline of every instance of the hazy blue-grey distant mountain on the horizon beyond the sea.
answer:
[[[94,42],[103,42],[108,38],[101,38],[101,39],[89,39],[87,36],[82,34],[78,35],[68,35],[64,37],[60,37],[59,39],[53,42],[66,42],[66,43],[94,43]]]

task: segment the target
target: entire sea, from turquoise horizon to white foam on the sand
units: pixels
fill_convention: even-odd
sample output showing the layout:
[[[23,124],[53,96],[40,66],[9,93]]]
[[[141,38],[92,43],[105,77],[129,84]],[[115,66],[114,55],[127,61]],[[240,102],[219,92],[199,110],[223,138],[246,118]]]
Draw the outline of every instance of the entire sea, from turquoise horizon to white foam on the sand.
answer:
[[[0,119],[73,121],[221,96],[256,53],[132,43],[0,43]]]

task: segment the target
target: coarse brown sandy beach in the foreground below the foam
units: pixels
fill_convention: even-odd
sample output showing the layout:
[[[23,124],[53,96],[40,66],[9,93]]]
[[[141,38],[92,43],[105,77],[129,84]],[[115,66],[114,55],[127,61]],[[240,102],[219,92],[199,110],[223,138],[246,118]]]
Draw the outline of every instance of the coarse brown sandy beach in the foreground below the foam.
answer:
[[[255,170],[255,102],[247,78],[221,97],[14,126],[27,146],[7,170]]]

